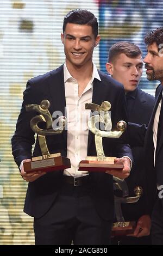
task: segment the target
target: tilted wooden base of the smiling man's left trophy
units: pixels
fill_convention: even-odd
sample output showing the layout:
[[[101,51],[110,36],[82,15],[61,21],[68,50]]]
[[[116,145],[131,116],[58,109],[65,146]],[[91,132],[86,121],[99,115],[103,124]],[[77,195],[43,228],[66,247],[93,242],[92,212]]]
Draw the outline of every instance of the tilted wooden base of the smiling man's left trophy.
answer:
[[[71,168],[70,159],[61,156],[60,153],[46,156],[33,157],[32,162],[23,163],[25,172],[41,170],[43,172],[53,172]]]

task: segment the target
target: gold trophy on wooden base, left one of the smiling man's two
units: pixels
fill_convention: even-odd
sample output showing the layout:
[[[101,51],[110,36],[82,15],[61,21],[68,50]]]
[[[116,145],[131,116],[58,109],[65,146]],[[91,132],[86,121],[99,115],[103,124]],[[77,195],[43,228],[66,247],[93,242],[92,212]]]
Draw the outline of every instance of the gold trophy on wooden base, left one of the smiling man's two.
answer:
[[[53,129],[52,115],[48,111],[49,106],[50,102],[48,100],[42,100],[40,105],[26,105],[26,111],[35,111],[40,113],[40,115],[36,115],[30,120],[30,127],[38,135],[42,156],[33,157],[32,162],[24,162],[23,166],[25,172],[31,172],[33,170],[51,172],[53,170],[71,167],[70,159],[61,156],[61,153],[50,154],[47,148],[46,136],[58,135],[64,130],[67,123],[66,117],[59,117],[58,123],[60,126]],[[42,121],[46,123],[45,130],[40,129],[38,126]]]

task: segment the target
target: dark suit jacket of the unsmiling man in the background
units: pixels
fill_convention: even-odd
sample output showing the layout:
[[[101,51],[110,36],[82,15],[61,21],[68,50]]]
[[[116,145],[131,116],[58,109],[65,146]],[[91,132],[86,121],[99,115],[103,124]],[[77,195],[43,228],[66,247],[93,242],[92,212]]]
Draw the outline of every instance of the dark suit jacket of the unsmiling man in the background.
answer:
[[[136,124],[146,124],[148,126],[149,120],[154,107],[155,98],[148,93],[142,92],[141,89],[137,88],[134,92],[135,99],[131,99],[133,104],[128,112],[128,121]],[[129,106],[128,106],[129,107]],[[130,172],[130,176],[126,179],[129,196],[135,196],[134,188],[136,186],[141,186],[143,188],[143,195],[137,203],[133,204],[122,204],[122,211],[124,219],[127,221],[138,220],[142,215],[147,214],[146,209],[146,178],[145,178],[145,164],[143,157],[143,147],[134,145],[132,141],[131,150],[134,157],[133,167]]]

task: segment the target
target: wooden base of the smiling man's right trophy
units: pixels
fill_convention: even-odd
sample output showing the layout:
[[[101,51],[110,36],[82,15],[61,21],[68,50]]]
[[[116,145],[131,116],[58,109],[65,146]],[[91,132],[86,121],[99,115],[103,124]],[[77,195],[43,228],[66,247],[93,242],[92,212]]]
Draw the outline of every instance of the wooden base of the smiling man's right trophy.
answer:
[[[123,164],[115,164],[115,159],[116,157],[87,156],[86,160],[80,161],[78,170],[89,172],[105,172],[111,169],[122,170]]]

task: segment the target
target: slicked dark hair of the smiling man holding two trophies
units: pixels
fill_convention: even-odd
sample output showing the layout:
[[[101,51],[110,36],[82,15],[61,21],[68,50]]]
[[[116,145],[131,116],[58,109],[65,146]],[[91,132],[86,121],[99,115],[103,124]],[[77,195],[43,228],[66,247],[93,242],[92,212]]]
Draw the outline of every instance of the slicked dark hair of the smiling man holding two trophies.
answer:
[[[76,9],[70,11],[64,18],[63,33],[65,32],[67,23],[89,25],[92,27],[93,35],[95,38],[98,35],[98,22],[94,14],[90,11],[83,9]]]

